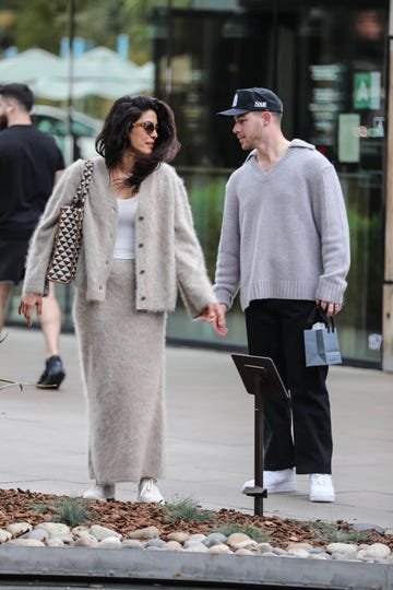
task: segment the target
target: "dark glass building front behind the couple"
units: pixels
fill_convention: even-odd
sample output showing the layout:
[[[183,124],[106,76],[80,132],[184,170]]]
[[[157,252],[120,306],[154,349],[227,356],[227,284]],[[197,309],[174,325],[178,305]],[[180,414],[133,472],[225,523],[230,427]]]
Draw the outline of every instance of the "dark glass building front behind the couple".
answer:
[[[12,14],[12,4],[7,2],[0,11],[0,31],[8,31],[10,44],[17,45],[21,33],[13,33],[11,25],[1,30],[1,19],[5,12]],[[63,28],[59,25],[53,47],[61,47],[62,31],[64,37],[74,39],[74,51],[86,55],[104,45],[123,61],[131,60],[150,71],[151,78],[139,90],[166,99],[175,110],[182,149],[174,164],[189,190],[212,280],[225,184],[245,160],[231,133],[231,121],[216,113],[227,108],[238,87],[265,86],[282,97],[285,135],[315,144],[335,165],[344,191],[352,239],[345,308],[337,318],[344,361],[382,367],[384,338],[391,338],[385,333],[390,324],[383,321],[385,232],[393,234],[392,227],[385,228],[390,1],[114,0],[96,10],[96,20],[107,21],[97,21],[95,27],[85,26],[90,5],[69,2],[62,21],[59,11]],[[100,36],[99,28],[106,30],[106,36]],[[53,51],[46,43],[43,47]],[[1,66],[11,59],[4,42],[1,50],[0,83]],[[75,70],[80,57],[73,58]],[[102,66],[104,85],[114,73],[115,66],[111,70]],[[75,78],[73,93],[70,86],[63,97],[37,96],[37,103],[63,110],[71,104],[73,110],[94,121],[103,119],[116,96],[109,92],[103,96],[103,86],[83,93],[80,83],[82,80]],[[124,85],[114,82],[112,88],[118,87],[120,91]],[[48,120],[44,122],[50,131]],[[90,132],[84,132],[82,143],[73,138],[71,160],[85,155],[81,148],[88,146]],[[63,324],[70,328],[72,287],[59,287],[58,292]],[[10,302],[9,321],[17,321],[16,300],[17,293]],[[228,327],[224,342],[210,326],[190,321],[179,302],[169,317],[168,339],[243,347],[246,332],[238,303],[228,315]]]

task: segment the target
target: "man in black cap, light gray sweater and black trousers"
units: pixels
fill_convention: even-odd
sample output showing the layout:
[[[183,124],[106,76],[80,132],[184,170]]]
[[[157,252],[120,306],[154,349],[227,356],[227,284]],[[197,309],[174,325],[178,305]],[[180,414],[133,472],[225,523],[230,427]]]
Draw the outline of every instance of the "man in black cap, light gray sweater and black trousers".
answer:
[[[249,354],[271,357],[290,392],[290,404],[265,400],[264,487],[295,489],[296,469],[310,474],[311,502],[334,502],[327,368],[306,367],[302,332],[315,302],[327,316],[342,309],[348,224],[334,167],[284,137],[282,114],[278,96],[259,87],[238,90],[219,113],[252,152],[227,184],[215,293],[227,311],[240,288]]]

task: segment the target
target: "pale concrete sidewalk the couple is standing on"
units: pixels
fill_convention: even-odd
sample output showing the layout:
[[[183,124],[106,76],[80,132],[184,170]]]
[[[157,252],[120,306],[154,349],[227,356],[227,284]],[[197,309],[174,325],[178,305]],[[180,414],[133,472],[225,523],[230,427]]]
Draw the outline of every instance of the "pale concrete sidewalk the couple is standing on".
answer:
[[[34,382],[44,367],[39,330],[7,329],[0,377]],[[67,378],[59,391],[26,386],[0,391],[0,487],[80,495],[90,485],[86,411],[73,334],[61,340]],[[308,499],[308,476],[297,492],[273,494],[264,514],[379,524],[393,533],[393,375],[332,367],[334,504]],[[229,353],[167,349],[167,502],[192,497],[203,507],[253,511],[240,493],[253,476],[253,398]],[[114,425],[116,427],[116,425]],[[119,484],[133,500],[136,484]]]

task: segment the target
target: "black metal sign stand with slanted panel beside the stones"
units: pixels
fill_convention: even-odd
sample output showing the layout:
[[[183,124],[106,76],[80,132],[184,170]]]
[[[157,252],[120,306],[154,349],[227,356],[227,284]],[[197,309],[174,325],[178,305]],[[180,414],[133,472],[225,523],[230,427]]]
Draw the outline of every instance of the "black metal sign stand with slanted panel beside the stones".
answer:
[[[254,514],[263,516],[263,498],[267,497],[267,489],[263,487],[264,397],[288,400],[289,396],[272,358],[247,354],[231,357],[247,392],[254,396],[254,486],[246,487],[243,494],[254,497]]]

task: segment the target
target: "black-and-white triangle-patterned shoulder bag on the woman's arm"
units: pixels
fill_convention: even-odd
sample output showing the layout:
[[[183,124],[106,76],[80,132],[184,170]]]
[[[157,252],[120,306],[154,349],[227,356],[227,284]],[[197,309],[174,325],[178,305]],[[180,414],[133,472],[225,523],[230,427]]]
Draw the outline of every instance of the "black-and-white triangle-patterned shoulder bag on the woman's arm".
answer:
[[[82,244],[84,204],[93,174],[93,162],[86,160],[81,182],[70,204],[60,208],[53,250],[47,270],[47,279],[64,285],[75,276]]]

